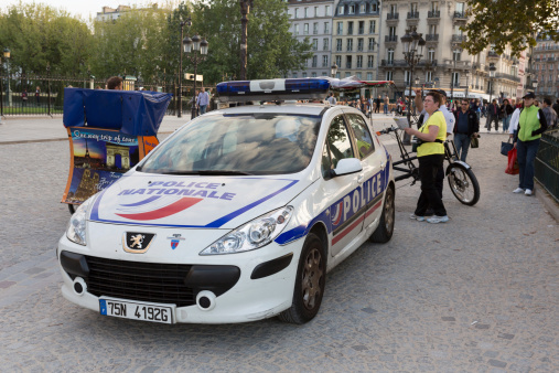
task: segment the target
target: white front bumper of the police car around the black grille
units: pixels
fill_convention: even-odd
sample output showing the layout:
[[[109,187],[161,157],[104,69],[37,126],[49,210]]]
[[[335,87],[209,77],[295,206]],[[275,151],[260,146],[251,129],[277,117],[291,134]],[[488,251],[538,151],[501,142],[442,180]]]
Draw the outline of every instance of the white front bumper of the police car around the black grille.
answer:
[[[101,296],[173,303],[176,305],[176,322],[228,323],[266,319],[291,307],[302,244],[303,239],[299,239],[286,246],[271,243],[260,249],[232,255],[186,255],[180,260],[184,264],[178,264],[174,253],[159,258],[138,254],[110,255],[110,251],[92,255],[93,249],[63,236],[58,243],[58,263],[64,279],[62,294],[67,300],[95,311],[99,311]],[[136,278],[132,281],[141,283],[140,277],[107,275],[109,267],[114,273],[129,273],[131,267],[137,267],[129,275],[140,277],[149,277],[152,268],[160,267],[159,274],[173,277],[171,281],[176,285],[173,291],[180,294],[175,298],[153,298],[153,294],[143,291],[147,289],[141,284],[130,284],[132,278]],[[98,284],[99,277],[105,277],[104,284]],[[80,292],[75,289],[77,280],[85,284]],[[129,289],[118,294],[121,287]],[[196,295],[201,291],[215,294],[215,305],[211,309],[196,302]]]

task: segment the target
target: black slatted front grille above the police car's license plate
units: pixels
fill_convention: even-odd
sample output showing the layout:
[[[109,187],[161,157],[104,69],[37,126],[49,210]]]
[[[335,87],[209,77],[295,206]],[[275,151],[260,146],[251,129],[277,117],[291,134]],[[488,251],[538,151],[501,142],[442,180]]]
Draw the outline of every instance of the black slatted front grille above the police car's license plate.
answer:
[[[184,285],[191,265],[114,260],[86,256],[87,291],[100,297],[174,303],[195,303],[194,290]]]

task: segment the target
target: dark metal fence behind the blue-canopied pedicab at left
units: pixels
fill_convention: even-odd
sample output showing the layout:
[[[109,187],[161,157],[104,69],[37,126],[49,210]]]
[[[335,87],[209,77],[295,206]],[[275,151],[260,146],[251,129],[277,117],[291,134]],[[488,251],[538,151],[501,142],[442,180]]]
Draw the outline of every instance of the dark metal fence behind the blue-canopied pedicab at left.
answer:
[[[106,79],[86,77],[62,77],[50,75],[0,75],[0,115],[62,115],[64,109],[64,88],[105,88]],[[126,89],[163,92],[173,94],[166,115],[176,115],[179,109],[179,81],[175,77],[158,82],[126,81]],[[198,88],[200,88],[200,84]],[[183,83],[182,113],[191,110],[193,84]],[[206,88],[213,88],[206,86]],[[212,89],[215,92],[214,89]]]

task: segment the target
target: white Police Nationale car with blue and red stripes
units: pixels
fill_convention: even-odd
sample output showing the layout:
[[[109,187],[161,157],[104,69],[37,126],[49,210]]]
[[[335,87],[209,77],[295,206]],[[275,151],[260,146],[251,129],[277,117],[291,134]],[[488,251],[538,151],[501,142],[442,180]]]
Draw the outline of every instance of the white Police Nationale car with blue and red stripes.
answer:
[[[327,79],[228,82],[219,99],[323,98]],[[318,313],[326,271],[394,231],[390,157],[358,110],[203,115],[83,203],[58,243],[64,297],[165,323]]]

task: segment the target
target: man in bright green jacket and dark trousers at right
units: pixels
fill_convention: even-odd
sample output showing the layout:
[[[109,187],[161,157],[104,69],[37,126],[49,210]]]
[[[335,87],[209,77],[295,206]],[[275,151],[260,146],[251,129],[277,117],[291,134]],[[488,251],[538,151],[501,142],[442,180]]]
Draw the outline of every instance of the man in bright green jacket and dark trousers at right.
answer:
[[[528,92],[524,97],[524,109],[518,121],[518,131],[514,140],[518,159],[519,183],[514,193],[531,195],[534,190],[534,163],[538,152],[539,139],[547,129],[546,115],[534,105],[536,95]]]

